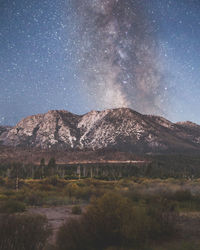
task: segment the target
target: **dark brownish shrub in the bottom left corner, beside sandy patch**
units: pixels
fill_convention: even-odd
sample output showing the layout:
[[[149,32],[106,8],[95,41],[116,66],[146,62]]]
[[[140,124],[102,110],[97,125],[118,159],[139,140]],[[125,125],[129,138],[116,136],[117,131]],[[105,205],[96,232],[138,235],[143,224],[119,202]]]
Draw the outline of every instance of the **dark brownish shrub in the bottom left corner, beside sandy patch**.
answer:
[[[1,250],[41,250],[50,229],[41,215],[9,215],[0,217]]]

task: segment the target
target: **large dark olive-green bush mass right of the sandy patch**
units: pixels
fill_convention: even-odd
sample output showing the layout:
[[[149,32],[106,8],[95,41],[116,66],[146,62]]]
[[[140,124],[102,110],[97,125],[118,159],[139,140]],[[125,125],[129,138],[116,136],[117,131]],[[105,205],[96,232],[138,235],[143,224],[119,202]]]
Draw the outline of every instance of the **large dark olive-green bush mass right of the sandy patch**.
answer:
[[[77,220],[64,224],[57,235],[59,250],[143,247],[148,241],[161,240],[174,232],[173,212],[165,204],[134,206],[116,193],[92,201]]]

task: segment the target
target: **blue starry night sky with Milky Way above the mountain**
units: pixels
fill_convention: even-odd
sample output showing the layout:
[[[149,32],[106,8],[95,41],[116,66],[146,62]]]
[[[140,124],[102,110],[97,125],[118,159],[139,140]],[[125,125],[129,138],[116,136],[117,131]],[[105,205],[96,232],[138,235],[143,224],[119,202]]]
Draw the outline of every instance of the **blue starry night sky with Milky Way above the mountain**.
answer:
[[[199,0],[0,0],[0,125],[117,107],[200,124]]]

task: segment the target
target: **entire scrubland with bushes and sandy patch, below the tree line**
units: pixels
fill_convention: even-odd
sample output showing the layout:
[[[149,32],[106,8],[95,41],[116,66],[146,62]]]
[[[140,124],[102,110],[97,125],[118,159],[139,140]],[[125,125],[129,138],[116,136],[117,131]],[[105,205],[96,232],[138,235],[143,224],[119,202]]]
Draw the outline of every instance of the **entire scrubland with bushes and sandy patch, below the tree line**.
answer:
[[[0,213],[0,249],[200,249],[200,179],[1,178]]]

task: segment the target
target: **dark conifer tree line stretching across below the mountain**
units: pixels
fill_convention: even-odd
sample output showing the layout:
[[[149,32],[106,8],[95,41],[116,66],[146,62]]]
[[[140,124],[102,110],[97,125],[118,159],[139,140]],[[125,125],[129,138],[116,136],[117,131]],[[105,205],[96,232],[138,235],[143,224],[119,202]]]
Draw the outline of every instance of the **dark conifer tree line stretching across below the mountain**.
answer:
[[[119,180],[127,177],[149,178],[200,178],[199,156],[154,156],[148,158],[148,164],[57,164],[55,158],[47,163],[23,164],[21,162],[0,163],[0,176],[16,179],[44,179],[57,176],[62,179],[97,178],[103,180]]]

